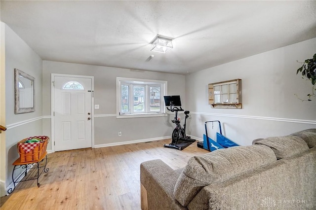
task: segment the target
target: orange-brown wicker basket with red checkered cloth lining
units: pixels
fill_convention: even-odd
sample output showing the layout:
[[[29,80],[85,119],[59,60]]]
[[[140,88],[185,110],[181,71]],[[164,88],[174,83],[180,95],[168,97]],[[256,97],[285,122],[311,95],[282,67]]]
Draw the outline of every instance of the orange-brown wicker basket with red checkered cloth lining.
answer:
[[[40,139],[41,141],[38,143],[36,147],[33,148],[33,150],[29,152],[25,152],[24,149],[21,147],[21,144],[24,143],[26,140],[31,140],[34,138]],[[29,137],[29,138],[20,140],[17,146],[18,146],[18,151],[20,153],[21,163],[35,162],[35,161],[40,160],[40,157],[46,151],[48,142],[49,142],[49,137],[47,136]]]

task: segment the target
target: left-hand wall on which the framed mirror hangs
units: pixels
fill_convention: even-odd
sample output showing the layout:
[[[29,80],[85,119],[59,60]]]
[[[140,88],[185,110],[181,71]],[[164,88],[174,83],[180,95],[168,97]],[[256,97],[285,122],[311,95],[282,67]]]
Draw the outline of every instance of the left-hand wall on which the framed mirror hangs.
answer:
[[[5,187],[7,187],[12,182],[12,163],[19,157],[17,142],[30,136],[42,135],[42,60],[7,25],[5,25],[4,30],[5,122],[7,130],[5,131],[6,165],[1,165],[1,171],[5,171],[5,177],[1,176],[1,183],[5,183]],[[14,114],[14,69],[22,70],[35,77],[35,112]]]

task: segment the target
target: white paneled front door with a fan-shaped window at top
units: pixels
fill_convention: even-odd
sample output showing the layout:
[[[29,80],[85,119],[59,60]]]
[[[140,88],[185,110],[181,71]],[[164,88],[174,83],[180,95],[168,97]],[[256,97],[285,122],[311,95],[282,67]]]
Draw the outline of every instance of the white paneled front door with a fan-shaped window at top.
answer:
[[[55,151],[92,147],[92,78],[53,76]]]

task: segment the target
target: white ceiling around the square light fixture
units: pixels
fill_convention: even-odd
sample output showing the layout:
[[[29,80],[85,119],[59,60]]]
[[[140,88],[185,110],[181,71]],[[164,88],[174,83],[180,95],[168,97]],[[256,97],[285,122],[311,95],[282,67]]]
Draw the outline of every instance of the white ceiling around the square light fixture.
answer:
[[[1,0],[0,9],[43,60],[180,74],[316,37],[315,0]],[[174,48],[150,51],[156,35]]]

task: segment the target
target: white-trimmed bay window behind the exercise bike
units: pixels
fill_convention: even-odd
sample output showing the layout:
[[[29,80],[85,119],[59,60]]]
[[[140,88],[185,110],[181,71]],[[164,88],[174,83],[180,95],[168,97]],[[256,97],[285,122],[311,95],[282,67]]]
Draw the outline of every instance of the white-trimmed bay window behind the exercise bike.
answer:
[[[117,77],[117,118],[164,116],[167,81]]]

